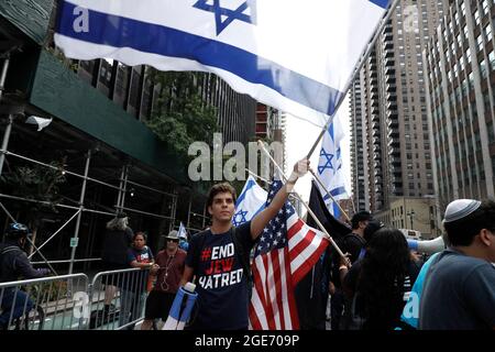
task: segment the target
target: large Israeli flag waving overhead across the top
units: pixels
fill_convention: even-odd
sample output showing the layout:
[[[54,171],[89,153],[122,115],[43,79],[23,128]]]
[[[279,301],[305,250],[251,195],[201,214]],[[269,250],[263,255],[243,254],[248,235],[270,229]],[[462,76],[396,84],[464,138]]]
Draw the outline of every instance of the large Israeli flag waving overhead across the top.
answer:
[[[331,116],[389,2],[62,0],[55,43],[70,58],[211,72],[288,113]]]

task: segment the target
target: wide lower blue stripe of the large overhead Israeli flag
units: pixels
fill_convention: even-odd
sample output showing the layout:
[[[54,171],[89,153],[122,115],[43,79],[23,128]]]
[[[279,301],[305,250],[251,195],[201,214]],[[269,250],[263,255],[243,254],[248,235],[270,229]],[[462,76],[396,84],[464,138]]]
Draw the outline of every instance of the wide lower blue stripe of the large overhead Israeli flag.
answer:
[[[336,102],[342,97],[334,88],[239,47],[163,25],[88,10],[90,31],[76,33],[73,28],[75,8],[73,3],[62,2],[57,33],[95,44],[197,61],[266,86],[287,99],[329,116],[333,114]],[[282,77],[284,87],[275,77]]]

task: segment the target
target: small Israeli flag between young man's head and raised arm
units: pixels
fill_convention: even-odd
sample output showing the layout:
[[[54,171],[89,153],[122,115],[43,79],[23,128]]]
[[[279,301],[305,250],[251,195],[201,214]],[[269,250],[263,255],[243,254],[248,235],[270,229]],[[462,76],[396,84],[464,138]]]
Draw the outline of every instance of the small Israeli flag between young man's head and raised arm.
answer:
[[[256,213],[265,209],[267,196],[267,191],[260,187],[253,176],[248,177],[235,202],[235,213],[232,218],[234,227],[250,221]]]

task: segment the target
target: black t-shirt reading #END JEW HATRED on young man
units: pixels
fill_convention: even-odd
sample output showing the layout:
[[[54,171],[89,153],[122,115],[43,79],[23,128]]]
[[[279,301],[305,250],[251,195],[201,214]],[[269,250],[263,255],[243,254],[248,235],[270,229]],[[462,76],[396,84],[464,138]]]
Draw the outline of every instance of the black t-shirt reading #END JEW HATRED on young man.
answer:
[[[235,235],[244,253],[249,253],[255,243],[251,239],[251,222],[237,228]],[[191,329],[248,328],[248,282],[232,242],[232,230],[218,234],[207,230],[195,235],[186,265],[194,268],[198,293],[198,314]]]

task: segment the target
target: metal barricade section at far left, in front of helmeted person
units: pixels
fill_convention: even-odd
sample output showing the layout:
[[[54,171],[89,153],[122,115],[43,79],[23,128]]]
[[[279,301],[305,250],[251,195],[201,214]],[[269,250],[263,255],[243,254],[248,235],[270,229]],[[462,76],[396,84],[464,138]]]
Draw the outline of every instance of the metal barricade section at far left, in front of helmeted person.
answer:
[[[88,282],[85,274],[73,274],[0,283],[0,328],[86,329]]]

